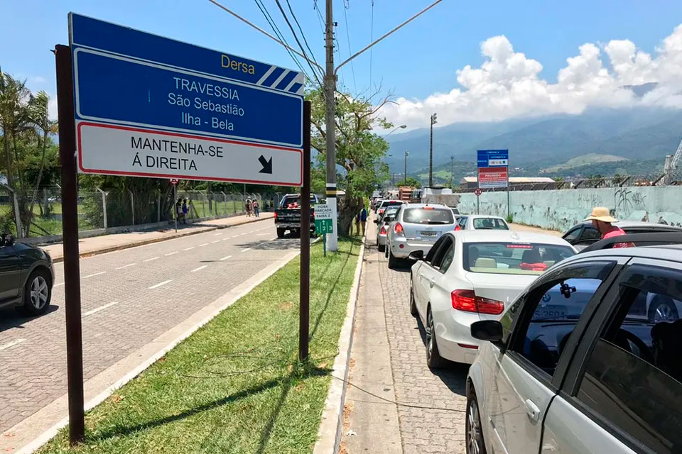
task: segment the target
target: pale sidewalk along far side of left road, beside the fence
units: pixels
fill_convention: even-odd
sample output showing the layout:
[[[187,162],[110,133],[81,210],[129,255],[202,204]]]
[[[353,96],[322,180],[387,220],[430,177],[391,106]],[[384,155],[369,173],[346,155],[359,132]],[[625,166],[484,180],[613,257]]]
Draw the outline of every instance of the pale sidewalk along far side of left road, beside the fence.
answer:
[[[190,223],[181,227],[178,226],[177,233],[175,233],[175,228],[171,227],[155,231],[132,231],[127,233],[115,233],[113,235],[93,236],[91,238],[81,238],[78,241],[78,249],[81,257],[87,257],[89,255],[109,253],[113,250],[134,248],[135,246],[158,243],[159,241],[171,240],[181,236],[195,235],[197,233],[217,230],[219,228],[241,226],[242,224],[256,221],[266,221],[272,219],[273,217],[273,213],[261,213],[261,216],[258,218],[242,215],[232,216],[229,218],[212,219],[211,221]],[[63,243],[53,243],[40,247],[48,251],[55,262],[60,262],[63,260]]]

